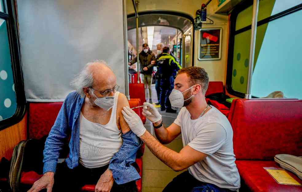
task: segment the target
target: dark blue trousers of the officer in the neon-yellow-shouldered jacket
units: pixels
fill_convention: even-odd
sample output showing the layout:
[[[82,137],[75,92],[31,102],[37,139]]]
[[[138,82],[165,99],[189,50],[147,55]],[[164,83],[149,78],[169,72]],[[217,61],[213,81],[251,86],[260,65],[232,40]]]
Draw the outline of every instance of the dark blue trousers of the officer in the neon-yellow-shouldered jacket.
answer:
[[[169,96],[174,88],[174,77],[162,77],[160,80],[160,105],[161,109],[171,109]]]

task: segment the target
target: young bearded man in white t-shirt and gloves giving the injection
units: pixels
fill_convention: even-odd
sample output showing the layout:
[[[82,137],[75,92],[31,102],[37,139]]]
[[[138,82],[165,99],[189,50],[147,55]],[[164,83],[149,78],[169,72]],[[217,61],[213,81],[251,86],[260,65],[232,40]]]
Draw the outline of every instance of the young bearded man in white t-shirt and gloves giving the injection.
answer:
[[[163,192],[239,191],[233,130],[226,116],[206,103],[208,84],[208,74],[200,67],[178,71],[169,99],[172,106],[181,110],[167,128],[163,126],[162,116],[156,108],[144,103],[143,115],[153,123],[158,140],[146,131],[132,109],[123,108],[122,113],[131,130],[157,158],[175,171],[188,169],[176,176]],[[180,133],[184,147],[179,153],[163,145]]]

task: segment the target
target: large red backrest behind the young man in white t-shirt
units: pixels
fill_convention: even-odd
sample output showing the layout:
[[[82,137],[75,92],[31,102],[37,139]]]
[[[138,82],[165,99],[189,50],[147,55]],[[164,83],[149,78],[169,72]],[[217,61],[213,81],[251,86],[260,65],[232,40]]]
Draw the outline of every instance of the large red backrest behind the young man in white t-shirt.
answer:
[[[236,159],[302,154],[302,100],[235,99],[228,119]]]

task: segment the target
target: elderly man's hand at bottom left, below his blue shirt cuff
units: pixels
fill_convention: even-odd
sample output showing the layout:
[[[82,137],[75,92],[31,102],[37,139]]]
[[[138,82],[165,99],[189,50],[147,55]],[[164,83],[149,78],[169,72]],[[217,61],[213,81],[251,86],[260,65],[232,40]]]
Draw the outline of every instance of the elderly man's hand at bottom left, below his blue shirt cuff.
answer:
[[[53,190],[54,173],[46,172],[43,176],[33,183],[33,186],[27,192],[38,192],[42,189],[47,189],[47,192]]]

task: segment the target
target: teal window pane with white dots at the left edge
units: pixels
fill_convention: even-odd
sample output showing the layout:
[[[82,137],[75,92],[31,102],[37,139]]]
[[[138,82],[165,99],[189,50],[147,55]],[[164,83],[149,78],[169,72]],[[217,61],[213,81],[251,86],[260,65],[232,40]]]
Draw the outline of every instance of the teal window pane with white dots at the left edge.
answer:
[[[6,21],[0,19],[0,121],[13,116],[17,109],[10,46]]]

